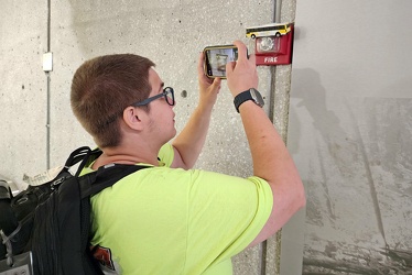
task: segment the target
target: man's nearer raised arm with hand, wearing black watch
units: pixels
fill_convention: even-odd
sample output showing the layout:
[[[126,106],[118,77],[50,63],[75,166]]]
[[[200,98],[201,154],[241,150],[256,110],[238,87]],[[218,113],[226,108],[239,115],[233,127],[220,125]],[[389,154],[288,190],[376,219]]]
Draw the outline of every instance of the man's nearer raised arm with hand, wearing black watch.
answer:
[[[238,61],[226,67],[234,98],[250,88],[258,88],[256,56],[248,57],[243,43],[236,41],[235,45],[239,50]],[[265,179],[273,194],[271,216],[250,244],[254,245],[282,228],[306,199],[295,164],[264,110],[253,100],[247,100],[239,106],[239,113],[252,155],[253,175]]]

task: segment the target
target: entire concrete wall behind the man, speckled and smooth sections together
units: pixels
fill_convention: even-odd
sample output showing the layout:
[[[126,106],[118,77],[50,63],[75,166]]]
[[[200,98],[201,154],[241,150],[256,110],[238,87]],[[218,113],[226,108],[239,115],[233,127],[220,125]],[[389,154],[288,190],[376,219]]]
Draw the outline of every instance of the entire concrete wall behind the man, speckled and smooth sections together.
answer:
[[[126,52],[152,58],[177,91],[182,129],[198,99],[199,51],[236,38],[251,48],[245,28],[272,22],[277,13],[277,21],[296,21],[292,76],[291,66],[260,67],[260,90],[288,136],[307,208],[282,234],[236,256],[235,273],[412,268],[411,1],[0,2],[2,177],[22,187],[23,174],[36,175],[61,165],[73,148],[93,146],[69,108],[71,79],[83,61]],[[47,74],[45,52],[54,57]],[[225,86],[197,167],[251,173]]]

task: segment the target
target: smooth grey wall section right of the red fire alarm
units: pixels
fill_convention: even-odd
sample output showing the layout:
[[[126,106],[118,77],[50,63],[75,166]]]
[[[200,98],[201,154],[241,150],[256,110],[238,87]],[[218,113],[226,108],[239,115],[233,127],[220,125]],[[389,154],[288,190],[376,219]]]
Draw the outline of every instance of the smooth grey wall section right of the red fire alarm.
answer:
[[[307,193],[292,221],[303,274],[412,274],[412,2],[296,7],[288,143]]]

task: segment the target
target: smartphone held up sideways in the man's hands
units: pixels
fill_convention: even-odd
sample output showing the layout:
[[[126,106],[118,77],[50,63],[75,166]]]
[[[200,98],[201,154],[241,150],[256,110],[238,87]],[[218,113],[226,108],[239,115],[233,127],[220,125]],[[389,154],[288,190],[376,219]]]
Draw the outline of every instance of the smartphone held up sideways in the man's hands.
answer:
[[[235,45],[207,46],[205,53],[205,75],[207,77],[226,78],[226,64],[238,59]]]

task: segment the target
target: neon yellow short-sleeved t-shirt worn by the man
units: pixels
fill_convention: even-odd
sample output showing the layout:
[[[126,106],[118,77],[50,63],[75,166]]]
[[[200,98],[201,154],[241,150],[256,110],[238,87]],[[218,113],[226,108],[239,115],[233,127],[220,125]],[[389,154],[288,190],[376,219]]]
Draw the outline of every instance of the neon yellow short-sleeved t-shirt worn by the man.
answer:
[[[138,170],[91,198],[91,243],[104,252],[105,271],[232,274],[231,256],[254,240],[272,210],[268,183],[170,168],[171,145],[160,158],[164,166]]]

